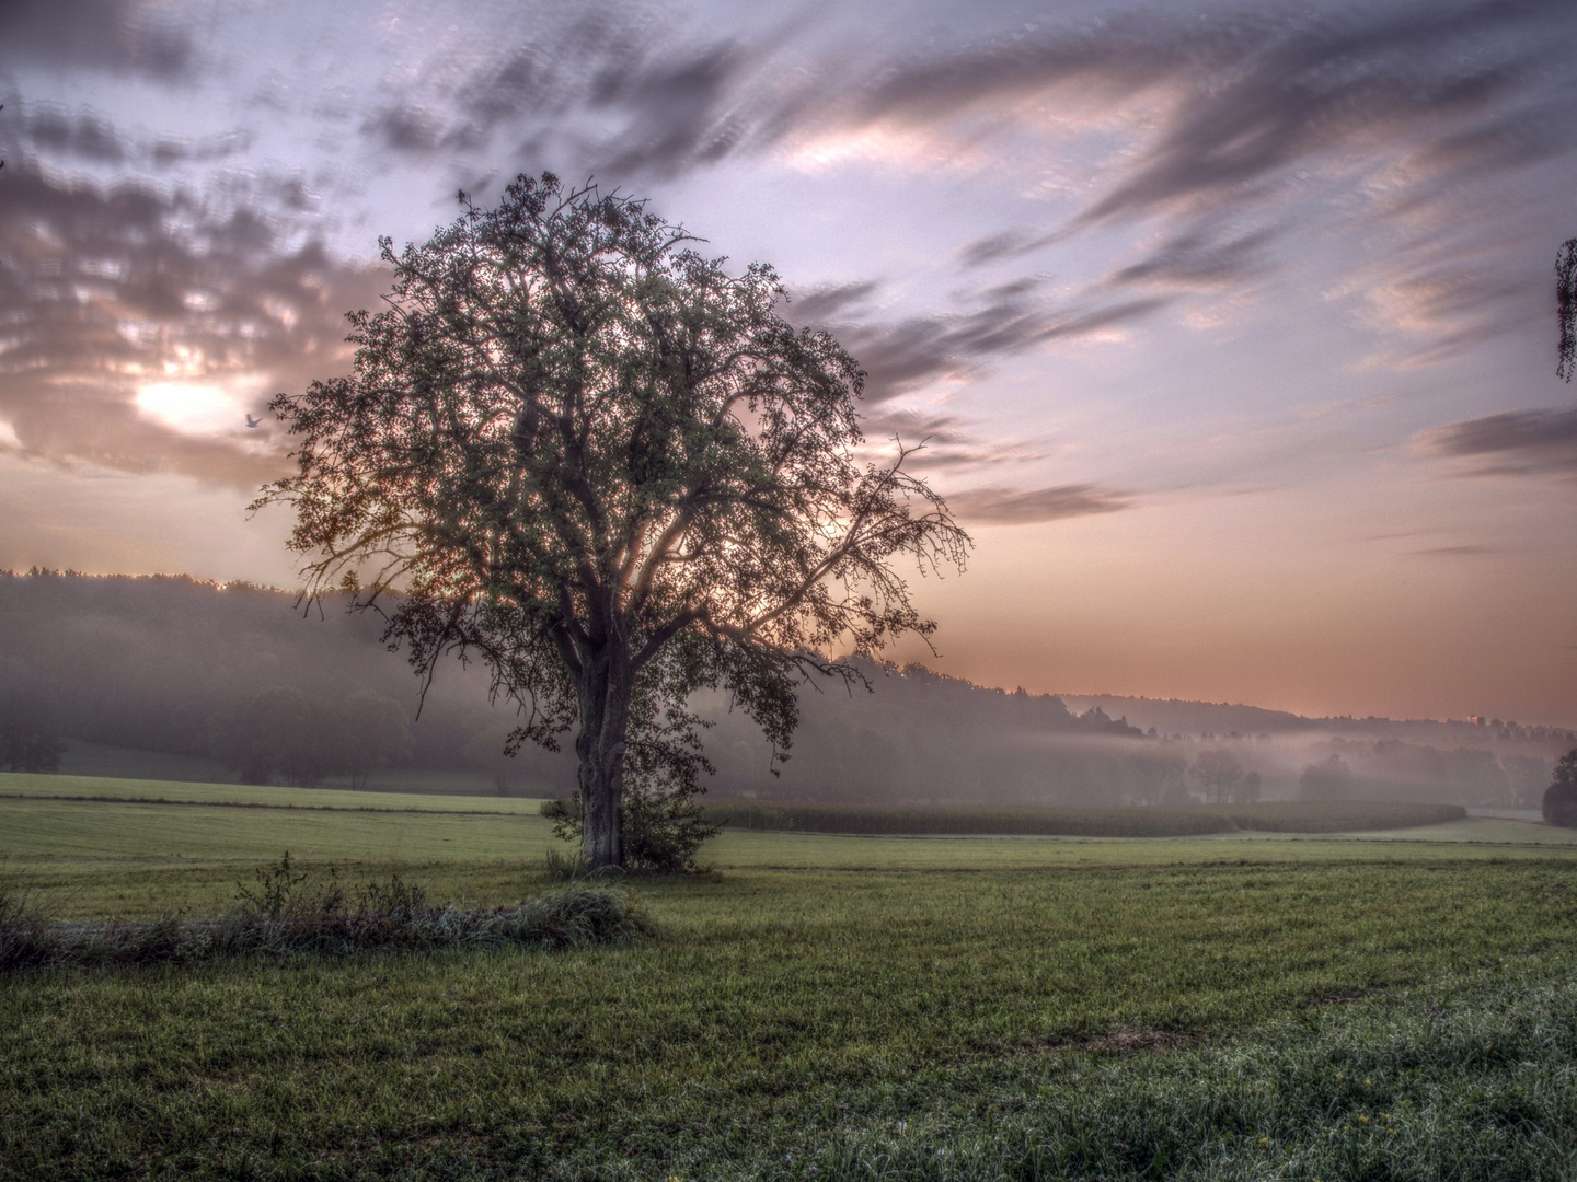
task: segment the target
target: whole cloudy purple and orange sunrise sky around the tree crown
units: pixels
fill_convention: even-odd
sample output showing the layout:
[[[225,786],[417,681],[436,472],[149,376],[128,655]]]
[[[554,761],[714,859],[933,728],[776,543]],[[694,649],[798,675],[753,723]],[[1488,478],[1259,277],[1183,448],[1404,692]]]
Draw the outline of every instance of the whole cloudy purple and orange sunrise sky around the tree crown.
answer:
[[[0,567],[293,586],[276,392],[456,194],[650,199],[967,525],[940,671],[1577,723],[1577,5],[0,2]]]

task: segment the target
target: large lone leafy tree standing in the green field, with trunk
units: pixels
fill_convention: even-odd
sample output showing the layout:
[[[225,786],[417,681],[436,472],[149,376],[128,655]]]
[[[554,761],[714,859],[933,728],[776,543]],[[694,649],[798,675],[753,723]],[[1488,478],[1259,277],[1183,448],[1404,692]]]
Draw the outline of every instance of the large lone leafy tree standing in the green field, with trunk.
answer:
[[[779,315],[770,266],[730,276],[547,173],[460,203],[424,246],[380,241],[388,307],[350,314],[349,377],[271,403],[298,473],[259,504],[293,506],[309,591],[385,611],[419,675],[484,660],[516,747],[579,723],[582,856],[620,867],[626,786],[688,801],[708,771],[691,693],[729,692],[784,758],[801,678],[934,632],[893,561],[962,567],[970,539],[913,449],[859,462],[864,374]]]

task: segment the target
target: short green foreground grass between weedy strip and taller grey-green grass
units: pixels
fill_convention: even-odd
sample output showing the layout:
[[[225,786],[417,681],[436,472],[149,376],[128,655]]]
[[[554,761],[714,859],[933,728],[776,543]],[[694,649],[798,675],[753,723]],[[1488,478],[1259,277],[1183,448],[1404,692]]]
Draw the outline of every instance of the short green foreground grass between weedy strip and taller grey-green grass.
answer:
[[[732,872],[643,881],[648,947],[30,974],[0,985],[0,1177],[399,1177],[438,1152],[479,1177],[718,1173],[1033,1091],[1087,1035],[1210,1042],[1463,969],[1569,968],[1568,878]]]

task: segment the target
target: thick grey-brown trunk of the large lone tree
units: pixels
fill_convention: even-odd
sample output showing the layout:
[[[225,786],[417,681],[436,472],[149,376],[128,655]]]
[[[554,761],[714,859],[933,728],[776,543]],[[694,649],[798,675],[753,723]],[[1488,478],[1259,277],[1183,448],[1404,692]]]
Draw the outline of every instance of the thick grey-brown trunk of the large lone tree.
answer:
[[[610,646],[617,648],[617,646]],[[580,860],[587,870],[624,865],[624,733],[636,689],[623,652],[604,651],[580,678]]]

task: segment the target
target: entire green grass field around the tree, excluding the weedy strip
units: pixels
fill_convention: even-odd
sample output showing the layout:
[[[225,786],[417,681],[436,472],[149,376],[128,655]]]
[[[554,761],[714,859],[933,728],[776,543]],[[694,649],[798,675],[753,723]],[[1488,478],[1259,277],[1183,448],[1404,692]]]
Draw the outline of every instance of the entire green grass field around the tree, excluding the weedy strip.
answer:
[[[63,919],[211,914],[284,848],[472,903],[552,889],[531,802],[377,804],[0,777],[3,875]],[[643,946],[0,979],[0,1179],[1331,1182],[1577,1162],[1577,846],[1558,831],[729,832],[708,860],[629,884],[661,928]]]

